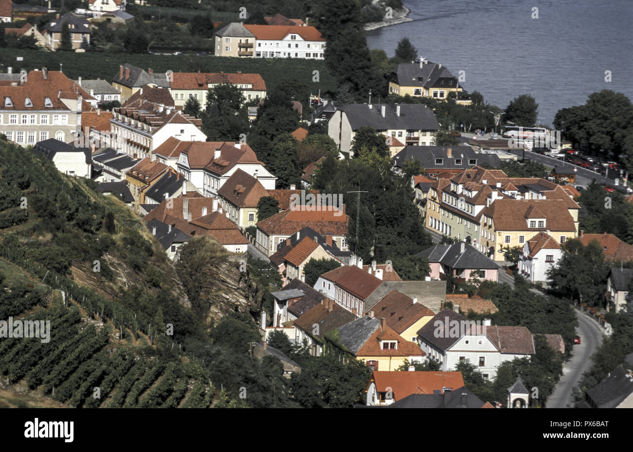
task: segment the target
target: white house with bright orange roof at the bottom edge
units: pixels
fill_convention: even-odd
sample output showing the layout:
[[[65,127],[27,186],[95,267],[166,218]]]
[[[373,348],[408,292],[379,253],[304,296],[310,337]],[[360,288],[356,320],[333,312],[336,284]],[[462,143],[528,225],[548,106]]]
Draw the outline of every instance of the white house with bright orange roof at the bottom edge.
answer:
[[[407,372],[375,369],[365,391],[369,406],[388,406],[411,394],[444,394],[464,386],[461,372]]]

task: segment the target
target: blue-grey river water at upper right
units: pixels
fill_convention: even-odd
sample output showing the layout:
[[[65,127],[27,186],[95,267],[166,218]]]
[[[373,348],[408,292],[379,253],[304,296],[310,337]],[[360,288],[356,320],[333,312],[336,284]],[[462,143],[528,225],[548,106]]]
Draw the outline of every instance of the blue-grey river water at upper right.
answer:
[[[413,22],[367,32],[370,49],[393,56],[408,37],[418,54],[465,71],[467,91],[506,108],[519,94],[539,104],[538,122],[611,89],[633,99],[633,0],[408,0]],[[539,18],[532,19],[532,8]],[[611,82],[605,82],[605,71]]]

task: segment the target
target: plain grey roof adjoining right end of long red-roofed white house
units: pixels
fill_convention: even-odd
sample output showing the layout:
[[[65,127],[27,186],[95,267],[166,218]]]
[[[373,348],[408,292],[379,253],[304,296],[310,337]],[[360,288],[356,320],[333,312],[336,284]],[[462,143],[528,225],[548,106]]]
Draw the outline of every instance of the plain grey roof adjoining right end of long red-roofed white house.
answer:
[[[369,310],[391,291],[398,291],[409,298],[417,297],[433,312],[440,310],[442,301],[446,301],[446,281],[383,281],[380,286],[365,299],[365,310]]]

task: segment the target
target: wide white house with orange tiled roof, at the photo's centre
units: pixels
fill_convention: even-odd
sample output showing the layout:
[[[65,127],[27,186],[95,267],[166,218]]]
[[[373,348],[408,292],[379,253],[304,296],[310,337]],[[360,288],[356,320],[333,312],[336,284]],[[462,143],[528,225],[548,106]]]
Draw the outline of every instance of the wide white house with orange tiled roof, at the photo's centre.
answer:
[[[348,234],[348,216],[344,204],[339,207],[318,206],[318,209],[296,205],[259,221],[256,226],[256,247],[266,256],[274,254],[281,242],[304,227],[310,227],[325,237],[332,236],[337,248],[348,251],[345,238]]]

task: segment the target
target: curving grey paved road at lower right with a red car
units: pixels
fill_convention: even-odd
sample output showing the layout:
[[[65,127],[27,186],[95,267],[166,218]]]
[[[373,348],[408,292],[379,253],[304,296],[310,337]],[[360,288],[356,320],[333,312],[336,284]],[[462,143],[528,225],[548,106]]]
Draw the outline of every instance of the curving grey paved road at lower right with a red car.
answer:
[[[580,344],[573,346],[572,359],[563,365],[563,376],[549,396],[547,408],[573,408],[572,389],[591,367],[591,356],[602,343],[604,330],[599,323],[578,310],[575,312]]]

